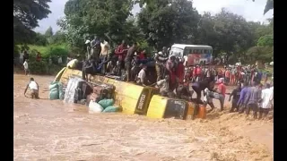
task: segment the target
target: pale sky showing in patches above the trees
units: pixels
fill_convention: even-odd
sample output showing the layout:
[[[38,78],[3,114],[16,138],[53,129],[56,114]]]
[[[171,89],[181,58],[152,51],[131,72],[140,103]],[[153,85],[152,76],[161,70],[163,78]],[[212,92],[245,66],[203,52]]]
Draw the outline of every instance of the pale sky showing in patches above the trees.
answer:
[[[49,26],[55,31],[60,30],[57,26],[57,20],[64,17],[65,2],[67,0],[52,0],[49,3],[50,13],[48,18],[39,21],[39,27],[35,29],[37,32],[44,33]],[[269,11],[263,15],[266,0],[193,0],[194,7],[198,13],[210,12],[212,14],[220,13],[222,8],[225,8],[231,13],[237,13],[243,16],[247,21],[266,22],[266,19],[273,16],[274,11]],[[138,5],[134,6],[132,11],[136,14],[140,11]]]

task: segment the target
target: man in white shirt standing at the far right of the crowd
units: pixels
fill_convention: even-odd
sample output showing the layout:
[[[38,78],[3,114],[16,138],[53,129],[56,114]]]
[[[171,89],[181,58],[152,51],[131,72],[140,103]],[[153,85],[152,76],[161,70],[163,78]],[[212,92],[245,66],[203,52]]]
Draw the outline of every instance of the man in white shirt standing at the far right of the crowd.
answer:
[[[261,106],[259,109],[259,119],[262,118],[262,114],[264,114],[263,119],[266,118],[267,114],[269,113],[271,107],[272,107],[272,101],[273,101],[273,90],[270,89],[270,84],[265,84],[265,89],[261,92]]]

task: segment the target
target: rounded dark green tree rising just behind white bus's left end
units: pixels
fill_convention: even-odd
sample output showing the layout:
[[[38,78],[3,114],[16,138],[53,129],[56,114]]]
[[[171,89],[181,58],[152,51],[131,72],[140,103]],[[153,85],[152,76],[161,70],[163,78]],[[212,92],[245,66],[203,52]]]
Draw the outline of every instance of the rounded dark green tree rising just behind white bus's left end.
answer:
[[[191,1],[159,0],[142,8],[138,26],[152,47],[187,43],[196,31],[199,14]]]

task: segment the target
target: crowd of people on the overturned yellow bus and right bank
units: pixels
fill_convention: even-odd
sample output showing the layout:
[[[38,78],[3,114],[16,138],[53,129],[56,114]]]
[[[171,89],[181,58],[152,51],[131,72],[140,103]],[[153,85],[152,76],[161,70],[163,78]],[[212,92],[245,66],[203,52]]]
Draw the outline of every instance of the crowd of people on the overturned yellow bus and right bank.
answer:
[[[239,112],[249,114],[253,111],[254,117],[262,118],[262,114],[268,114],[272,107],[273,86],[266,83],[273,76],[269,72],[262,72],[256,65],[227,65],[221,68],[215,65],[196,65],[186,68],[185,60],[170,54],[169,48],[148,57],[145,51],[140,51],[138,45],[133,43],[128,47],[126,41],[110,51],[109,43],[95,37],[87,40],[87,55],[83,61],[83,79],[90,80],[91,74],[114,74],[122,76],[126,81],[134,81],[142,86],[155,86],[160,89],[161,96],[177,97],[194,101],[197,104],[211,106],[208,112],[213,111],[213,99],[220,101],[220,110],[223,110],[224,100],[227,95],[226,86],[237,85],[230,93],[232,106],[230,113]],[[74,61],[74,62],[73,62]],[[149,77],[148,63],[153,61],[154,75]],[[72,60],[68,67],[74,68]],[[124,73],[124,74],[123,74]],[[152,81],[151,78],[156,80]],[[265,85],[261,81],[265,81]],[[215,84],[217,87],[215,88]],[[204,92],[204,100],[202,100]],[[196,98],[192,98],[196,93]],[[229,100],[230,100],[229,98]]]

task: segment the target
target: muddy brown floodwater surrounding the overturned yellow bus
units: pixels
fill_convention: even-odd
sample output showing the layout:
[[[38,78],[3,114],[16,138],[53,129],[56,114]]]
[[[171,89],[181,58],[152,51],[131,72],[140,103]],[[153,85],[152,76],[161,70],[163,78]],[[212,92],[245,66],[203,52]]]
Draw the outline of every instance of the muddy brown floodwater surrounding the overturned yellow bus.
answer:
[[[23,96],[30,77],[13,76],[14,160],[273,160],[271,121],[228,109],[195,121],[88,114],[85,106],[48,100],[54,77],[33,75],[41,98],[33,100]]]

